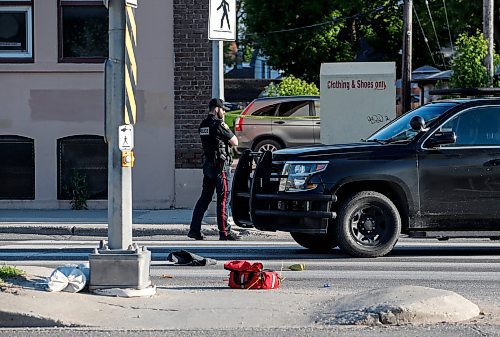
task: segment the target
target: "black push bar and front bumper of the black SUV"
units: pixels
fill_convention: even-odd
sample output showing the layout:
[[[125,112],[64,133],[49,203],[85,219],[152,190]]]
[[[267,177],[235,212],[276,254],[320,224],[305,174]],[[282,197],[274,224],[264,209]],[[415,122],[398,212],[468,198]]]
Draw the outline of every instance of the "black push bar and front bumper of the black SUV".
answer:
[[[233,178],[231,207],[234,222],[241,227],[255,226],[273,230],[277,223],[272,217],[335,219],[330,205],[336,202],[334,195],[279,193],[284,164],[272,161],[271,151],[263,153],[245,151],[239,159]],[[312,207],[311,204],[320,204]],[[301,205],[296,209],[291,206]]]

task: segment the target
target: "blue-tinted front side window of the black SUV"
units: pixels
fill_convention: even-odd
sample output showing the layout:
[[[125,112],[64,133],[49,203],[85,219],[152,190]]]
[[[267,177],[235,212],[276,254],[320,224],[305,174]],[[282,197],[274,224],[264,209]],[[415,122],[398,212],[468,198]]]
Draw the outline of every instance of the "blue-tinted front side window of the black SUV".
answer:
[[[474,108],[455,116],[441,127],[441,131],[454,131],[455,144],[445,146],[500,145],[500,108]]]

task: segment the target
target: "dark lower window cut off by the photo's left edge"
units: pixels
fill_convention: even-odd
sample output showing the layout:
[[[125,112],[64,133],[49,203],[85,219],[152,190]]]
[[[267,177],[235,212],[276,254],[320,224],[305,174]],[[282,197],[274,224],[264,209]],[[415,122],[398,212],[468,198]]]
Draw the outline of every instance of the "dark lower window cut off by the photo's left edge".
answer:
[[[20,136],[0,136],[0,199],[35,199],[35,142]]]

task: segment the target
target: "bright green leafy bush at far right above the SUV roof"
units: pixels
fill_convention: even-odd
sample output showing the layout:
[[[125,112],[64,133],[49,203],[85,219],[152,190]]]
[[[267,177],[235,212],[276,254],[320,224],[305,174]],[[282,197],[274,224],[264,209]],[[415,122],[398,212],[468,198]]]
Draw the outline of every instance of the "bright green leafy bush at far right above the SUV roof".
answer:
[[[455,88],[481,88],[491,84],[483,61],[488,54],[488,42],[479,31],[475,35],[461,34],[456,42],[450,84]]]

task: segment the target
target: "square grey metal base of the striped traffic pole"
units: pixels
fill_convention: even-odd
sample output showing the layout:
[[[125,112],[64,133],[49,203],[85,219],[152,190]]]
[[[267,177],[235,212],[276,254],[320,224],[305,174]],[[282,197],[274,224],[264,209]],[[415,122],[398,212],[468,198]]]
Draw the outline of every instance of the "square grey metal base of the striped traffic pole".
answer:
[[[151,286],[151,252],[137,244],[128,250],[96,250],[89,256],[89,290],[145,289]]]

